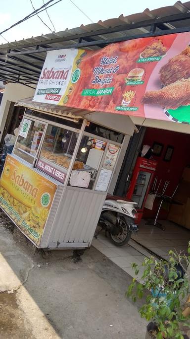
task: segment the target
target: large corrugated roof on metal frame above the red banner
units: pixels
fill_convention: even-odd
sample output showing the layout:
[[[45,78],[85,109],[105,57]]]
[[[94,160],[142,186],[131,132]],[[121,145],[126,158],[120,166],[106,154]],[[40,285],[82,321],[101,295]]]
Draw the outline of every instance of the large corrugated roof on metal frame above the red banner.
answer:
[[[107,44],[190,31],[190,1],[142,13],[120,15],[60,32],[0,45],[0,80],[35,87],[49,50],[85,48],[99,50]]]

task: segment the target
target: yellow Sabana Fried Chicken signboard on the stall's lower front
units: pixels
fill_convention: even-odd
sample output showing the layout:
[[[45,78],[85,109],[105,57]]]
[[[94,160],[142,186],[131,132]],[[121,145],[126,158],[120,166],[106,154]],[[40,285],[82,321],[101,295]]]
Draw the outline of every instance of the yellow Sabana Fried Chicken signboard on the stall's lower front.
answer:
[[[0,178],[0,206],[38,246],[56,185],[7,155]]]

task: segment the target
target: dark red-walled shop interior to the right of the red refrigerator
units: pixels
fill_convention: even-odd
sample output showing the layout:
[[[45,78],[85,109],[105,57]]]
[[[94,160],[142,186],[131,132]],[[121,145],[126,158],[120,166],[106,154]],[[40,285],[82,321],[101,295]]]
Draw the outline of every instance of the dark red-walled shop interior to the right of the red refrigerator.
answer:
[[[167,259],[169,250],[187,252],[190,240],[190,135],[146,128],[142,145],[153,149],[157,165],[150,203],[145,203],[139,232],[132,238]]]

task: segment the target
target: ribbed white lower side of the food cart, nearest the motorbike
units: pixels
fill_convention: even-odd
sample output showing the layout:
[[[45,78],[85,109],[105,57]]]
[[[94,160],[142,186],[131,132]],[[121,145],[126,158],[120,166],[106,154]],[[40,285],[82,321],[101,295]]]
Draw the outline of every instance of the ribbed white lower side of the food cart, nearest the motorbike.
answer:
[[[88,248],[91,245],[107,193],[67,187],[61,203],[49,218],[41,246]],[[57,206],[56,206],[57,207]]]

